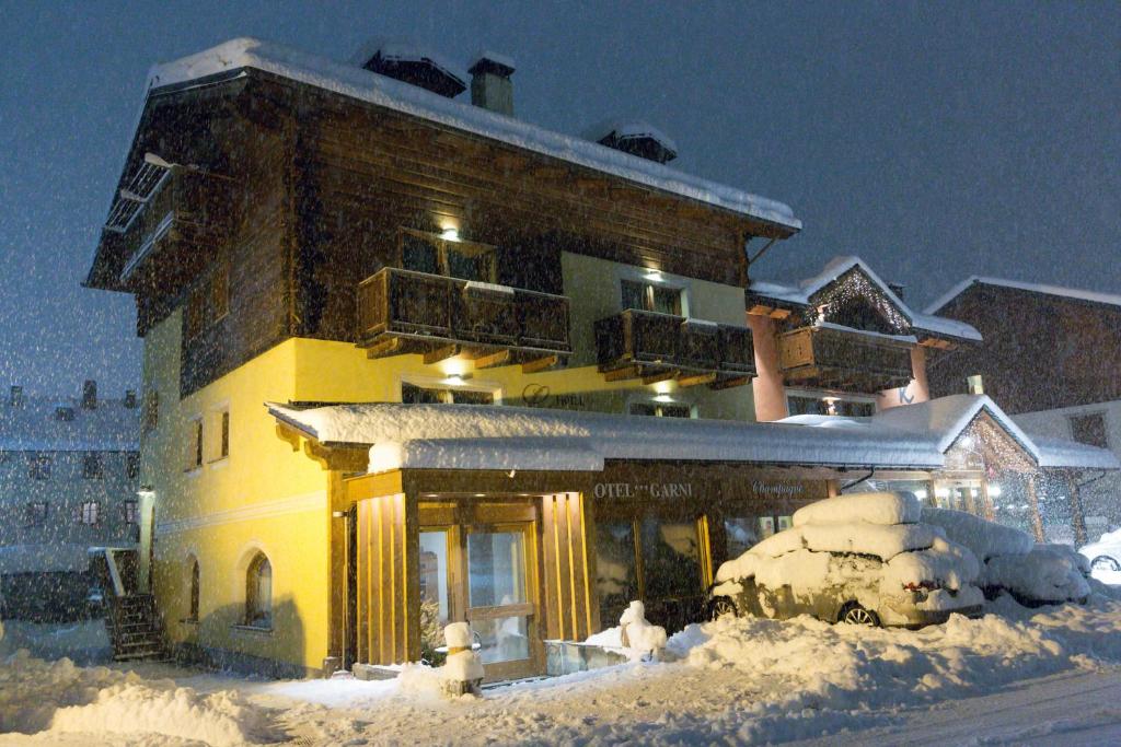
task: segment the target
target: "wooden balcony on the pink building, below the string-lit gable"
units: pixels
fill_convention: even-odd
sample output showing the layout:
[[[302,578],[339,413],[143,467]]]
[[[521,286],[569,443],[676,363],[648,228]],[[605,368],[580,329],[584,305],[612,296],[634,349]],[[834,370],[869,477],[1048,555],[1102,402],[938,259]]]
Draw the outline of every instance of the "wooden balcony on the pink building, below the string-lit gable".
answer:
[[[787,383],[874,394],[911,380],[905,338],[842,327],[802,327],[779,336],[779,367]]]

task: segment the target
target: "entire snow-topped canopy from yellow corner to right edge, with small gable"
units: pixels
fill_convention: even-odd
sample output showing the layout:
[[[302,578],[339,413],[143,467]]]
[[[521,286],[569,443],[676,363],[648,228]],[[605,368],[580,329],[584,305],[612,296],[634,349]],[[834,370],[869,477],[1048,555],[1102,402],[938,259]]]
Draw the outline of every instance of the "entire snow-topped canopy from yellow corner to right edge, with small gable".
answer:
[[[782,422],[640,418],[456,404],[266,403],[285,426],[328,447],[368,447],[369,471],[587,471],[604,460],[938,469],[986,411],[1041,467],[1118,469],[1104,449],[1030,438],[988,396],[955,395],[871,418],[802,415]]]

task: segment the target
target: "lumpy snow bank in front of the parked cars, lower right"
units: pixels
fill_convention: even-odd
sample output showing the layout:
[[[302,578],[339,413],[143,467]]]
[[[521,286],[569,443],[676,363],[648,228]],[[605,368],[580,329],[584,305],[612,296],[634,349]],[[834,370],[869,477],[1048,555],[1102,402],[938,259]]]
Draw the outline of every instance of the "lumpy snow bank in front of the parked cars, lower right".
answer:
[[[714,679],[738,672],[766,683],[766,695],[715,717],[702,741],[719,734],[740,743],[835,735],[882,722],[877,709],[898,713],[1027,678],[1121,663],[1117,601],[1096,597],[1090,607],[1034,614],[1003,597],[993,608],[999,616],[954,615],[920,631],[729,616],[691,625],[668,648]]]

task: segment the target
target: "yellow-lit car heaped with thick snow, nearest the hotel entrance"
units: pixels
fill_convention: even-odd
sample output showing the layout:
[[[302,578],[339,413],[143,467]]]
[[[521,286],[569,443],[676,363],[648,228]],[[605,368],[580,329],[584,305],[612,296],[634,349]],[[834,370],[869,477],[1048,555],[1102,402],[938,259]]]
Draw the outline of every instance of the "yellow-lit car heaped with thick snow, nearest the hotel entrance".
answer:
[[[969,549],[919,523],[911,495],[827,498],[794,526],[723,563],[710,591],[713,618],[812,615],[830,623],[918,627],[976,615],[984,596]]]

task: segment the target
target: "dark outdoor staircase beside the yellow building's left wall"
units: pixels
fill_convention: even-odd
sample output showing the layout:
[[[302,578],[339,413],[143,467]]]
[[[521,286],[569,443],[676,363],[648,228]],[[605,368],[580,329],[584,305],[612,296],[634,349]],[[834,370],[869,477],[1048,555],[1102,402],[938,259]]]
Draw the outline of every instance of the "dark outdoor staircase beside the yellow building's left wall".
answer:
[[[137,589],[137,552],[127,548],[91,548],[91,566],[105,600],[105,628],[113,660],[167,659],[156,598]]]

